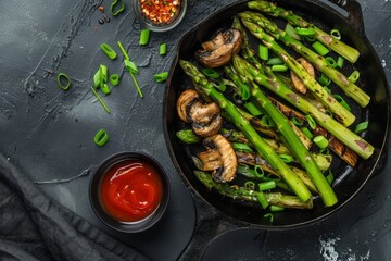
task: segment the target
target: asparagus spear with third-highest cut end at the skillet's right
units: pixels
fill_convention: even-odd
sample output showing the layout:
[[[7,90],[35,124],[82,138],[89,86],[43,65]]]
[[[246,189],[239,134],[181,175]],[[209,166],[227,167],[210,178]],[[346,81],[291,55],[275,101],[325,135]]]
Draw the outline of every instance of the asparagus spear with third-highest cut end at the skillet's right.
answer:
[[[242,14],[239,14],[241,16]],[[294,72],[304,83],[311,92],[319,98],[321,102],[338,117],[338,120],[345,126],[351,125],[355,121],[354,114],[341,105],[319,83],[317,83],[306,70],[292,58],[282,47],[280,47],[275,39],[267,35],[261,26],[251,22],[251,20],[242,18],[244,26],[251,32],[253,36],[261,39],[265,46],[272,49],[292,72]]]

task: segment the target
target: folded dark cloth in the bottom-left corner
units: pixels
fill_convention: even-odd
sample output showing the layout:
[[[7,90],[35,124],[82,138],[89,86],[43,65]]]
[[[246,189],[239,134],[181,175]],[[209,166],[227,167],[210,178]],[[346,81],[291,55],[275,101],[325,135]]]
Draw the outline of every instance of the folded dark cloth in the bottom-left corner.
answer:
[[[52,201],[0,156],[0,260],[148,259]]]

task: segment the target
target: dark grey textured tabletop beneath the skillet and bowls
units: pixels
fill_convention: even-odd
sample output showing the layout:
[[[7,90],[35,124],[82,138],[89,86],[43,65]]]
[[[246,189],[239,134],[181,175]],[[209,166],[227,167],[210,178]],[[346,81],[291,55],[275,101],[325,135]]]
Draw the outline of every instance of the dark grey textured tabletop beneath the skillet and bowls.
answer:
[[[0,152],[53,199],[103,229],[88,202],[89,174],[94,165],[123,150],[153,156],[172,182],[173,197],[164,220],[140,235],[105,231],[155,260],[177,259],[191,237],[181,260],[199,260],[205,248],[205,260],[389,260],[389,164],[337,215],[306,228],[235,229],[199,200],[195,214],[193,200],[165,148],[161,117],[165,86],[155,84],[152,75],[168,70],[181,34],[230,2],[190,0],[188,14],[177,28],[152,33],[151,42],[139,47],[140,26],[129,1],[125,13],[104,25],[98,24],[102,14],[96,9],[103,4],[108,14],[110,1],[5,1],[0,9]],[[358,2],[366,35],[391,79],[391,2]],[[138,79],[144,99],[138,97],[121,60],[111,61],[99,50],[100,44],[116,47],[117,40],[140,66]],[[157,54],[162,41],[168,46],[164,58]],[[121,85],[103,98],[111,114],[89,90],[100,63],[122,77]],[[66,92],[56,86],[59,72],[73,80]],[[98,148],[92,139],[101,127],[111,141]]]

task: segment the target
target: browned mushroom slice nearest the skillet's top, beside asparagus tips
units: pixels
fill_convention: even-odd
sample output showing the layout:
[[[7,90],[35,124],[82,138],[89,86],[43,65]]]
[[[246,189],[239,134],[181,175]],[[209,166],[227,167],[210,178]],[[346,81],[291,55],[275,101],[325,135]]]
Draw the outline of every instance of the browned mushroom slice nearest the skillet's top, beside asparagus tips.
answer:
[[[240,51],[243,35],[238,29],[227,29],[212,40],[203,42],[195,52],[195,59],[205,67],[218,67],[229,63],[234,53]]]

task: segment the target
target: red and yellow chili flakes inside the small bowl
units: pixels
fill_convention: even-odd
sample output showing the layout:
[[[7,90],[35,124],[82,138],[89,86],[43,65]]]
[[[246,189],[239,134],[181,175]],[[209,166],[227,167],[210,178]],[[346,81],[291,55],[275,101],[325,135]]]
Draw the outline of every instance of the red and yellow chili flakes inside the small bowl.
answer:
[[[178,13],[180,0],[139,0],[141,11],[154,24],[169,23]]]

